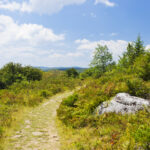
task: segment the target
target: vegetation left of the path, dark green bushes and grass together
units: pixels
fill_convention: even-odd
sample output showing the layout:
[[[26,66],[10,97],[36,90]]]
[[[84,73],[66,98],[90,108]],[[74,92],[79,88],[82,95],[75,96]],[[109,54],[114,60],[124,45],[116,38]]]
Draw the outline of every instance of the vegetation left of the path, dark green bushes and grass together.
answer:
[[[68,78],[63,71],[42,72],[20,64],[5,65],[0,70],[0,143],[20,109],[34,107],[57,93],[74,89],[79,83],[79,79]]]

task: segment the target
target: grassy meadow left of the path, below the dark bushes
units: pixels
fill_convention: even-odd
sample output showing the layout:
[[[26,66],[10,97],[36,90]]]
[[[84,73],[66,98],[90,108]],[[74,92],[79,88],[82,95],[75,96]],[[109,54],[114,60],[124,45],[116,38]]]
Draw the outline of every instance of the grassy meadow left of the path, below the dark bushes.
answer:
[[[2,145],[5,145],[5,136],[8,136],[11,128],[16,126],[16,118],[19,119],[24,111],[33,109],[57,93],[74,89],[79,84],[79,79],[67,78],[64,72],[51,71],[43,73],[41,81],[23,81],[0,90],[1,149]]]

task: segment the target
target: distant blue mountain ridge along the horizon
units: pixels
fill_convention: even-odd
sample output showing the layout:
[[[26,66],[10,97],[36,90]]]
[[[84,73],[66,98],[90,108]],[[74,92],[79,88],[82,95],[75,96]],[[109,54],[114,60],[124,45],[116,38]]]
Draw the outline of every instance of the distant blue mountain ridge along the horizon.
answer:
[[[82,72],[82,71],[88,69],[88,68],[82,68],[82,67],[76,67],[76,66],[75,67],[43,67],[43,66],[39,66],[39,67],[35,67],[35,68],[41,69],[42,71],[50,71],[50,70],[65,71],[67,69],[74,68],[79,72]]]

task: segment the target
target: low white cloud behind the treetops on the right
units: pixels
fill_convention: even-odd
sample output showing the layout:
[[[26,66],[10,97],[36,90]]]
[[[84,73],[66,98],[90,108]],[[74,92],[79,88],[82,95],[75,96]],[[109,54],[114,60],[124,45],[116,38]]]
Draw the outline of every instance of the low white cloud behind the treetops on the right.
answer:
[[[93,53],[93,51],[97,47],[97,44],[107,45],[108,49],[113,54],[114,60],[118,60],[119,56],[122,55],[122,53],[126,50],[126,47],[128,45],[128,42],[123,40],[110,40],[110,41],[100,40],[92,42],[87,39],[83,39],[83,40],[76,40],[75,43],[79,44],[77,48],[78,50],[84,51],[86,50],[90,51],[91,53]]]

